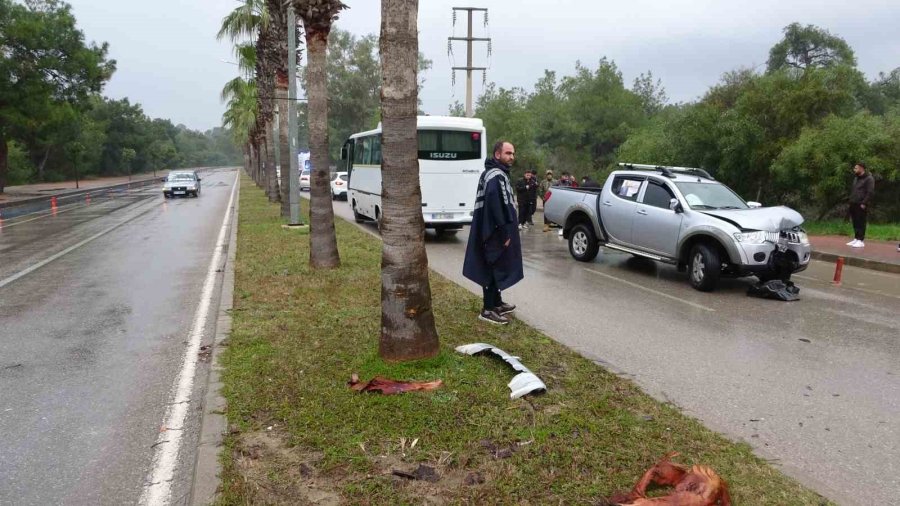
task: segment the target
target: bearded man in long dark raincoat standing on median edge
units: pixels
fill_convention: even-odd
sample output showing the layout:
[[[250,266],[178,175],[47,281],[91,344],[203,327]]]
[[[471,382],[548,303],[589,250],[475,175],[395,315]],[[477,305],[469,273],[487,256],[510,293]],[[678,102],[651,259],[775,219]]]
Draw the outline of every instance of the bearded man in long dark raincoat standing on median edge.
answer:
[[[515,158],[516,148],[500,141],[494,144],[493,158],[485,160],[463,262],[463,276],[481,285],[483,291],[484,304],[478,318],[498,325],[509,323],[505,315],[516,309],[503,302],[500,290],[525,277],[516,226],[518,216],[509,182],[509,168]]]

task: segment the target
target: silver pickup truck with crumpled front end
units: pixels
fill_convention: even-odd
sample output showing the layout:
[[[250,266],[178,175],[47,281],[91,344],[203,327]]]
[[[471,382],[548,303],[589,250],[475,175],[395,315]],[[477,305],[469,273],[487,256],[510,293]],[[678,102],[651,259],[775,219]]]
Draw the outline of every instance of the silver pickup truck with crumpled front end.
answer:
[[[797,211],[745,202],[702,169],[619,165],[603,188],[550,189],[544,215],[563,227],[576,260],[604,245],[677,265],[701,291],[722,276],[787,281],[809,264]]]

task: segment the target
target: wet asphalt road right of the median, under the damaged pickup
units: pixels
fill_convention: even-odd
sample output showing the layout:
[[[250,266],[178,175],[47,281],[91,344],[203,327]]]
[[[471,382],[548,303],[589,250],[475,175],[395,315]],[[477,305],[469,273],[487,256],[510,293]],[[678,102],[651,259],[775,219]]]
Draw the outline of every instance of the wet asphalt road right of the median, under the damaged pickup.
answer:
[[[602,248],[576,262],[556,230],[521,236],[525,280],[504,292],[517,318],[840,504],[898,504],[900,276],[845,267],[835,287],[833,264],[814,261],[786,303],[747,297],[749,279],[701,293]],[[467,238],[428,233],[429,264],[480,295],[461,274]]]

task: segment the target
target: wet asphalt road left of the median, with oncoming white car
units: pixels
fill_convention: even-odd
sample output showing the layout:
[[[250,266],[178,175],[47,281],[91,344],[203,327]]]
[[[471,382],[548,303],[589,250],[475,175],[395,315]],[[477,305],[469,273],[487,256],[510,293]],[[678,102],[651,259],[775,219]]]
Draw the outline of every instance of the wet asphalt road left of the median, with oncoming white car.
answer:
[[[235,175],[202,173],[196,199],[154,185],[0,222],[0,504],[138,501]]]

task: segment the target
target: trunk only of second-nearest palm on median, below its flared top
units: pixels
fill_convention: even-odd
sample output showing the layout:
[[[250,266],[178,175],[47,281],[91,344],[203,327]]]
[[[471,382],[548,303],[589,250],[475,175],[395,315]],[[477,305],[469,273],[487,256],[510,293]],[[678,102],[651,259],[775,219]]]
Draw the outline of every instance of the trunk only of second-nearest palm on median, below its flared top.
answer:
[[[325,48],[328,31],[307,27],[306,76],[309,86],[309,147],[312,155],[310,174],[309,265],[331,269],[341,265],[334,235],[334,210],[328,177],[328,91],[325,88]]]

